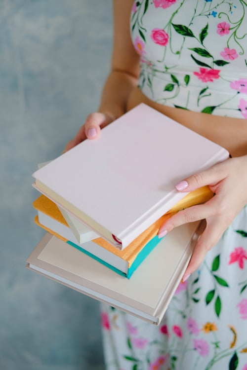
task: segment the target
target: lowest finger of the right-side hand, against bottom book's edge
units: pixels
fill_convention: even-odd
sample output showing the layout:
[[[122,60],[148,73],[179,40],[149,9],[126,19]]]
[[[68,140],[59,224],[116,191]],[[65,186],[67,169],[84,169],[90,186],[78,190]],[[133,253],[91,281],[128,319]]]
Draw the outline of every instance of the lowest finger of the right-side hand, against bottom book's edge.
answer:
[[[183,281],[186,281],[192,272],[198,269],[200,264],[204,261],[207,252],[215,246],[224,231],[225,228],[219,220],[207,221],[206,228],[199,237],[190,262],[186,268]]]

